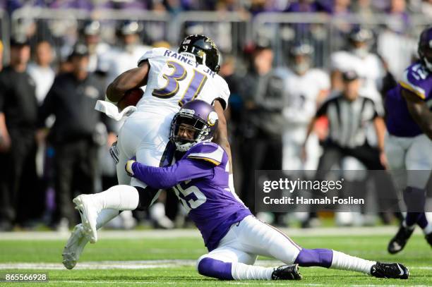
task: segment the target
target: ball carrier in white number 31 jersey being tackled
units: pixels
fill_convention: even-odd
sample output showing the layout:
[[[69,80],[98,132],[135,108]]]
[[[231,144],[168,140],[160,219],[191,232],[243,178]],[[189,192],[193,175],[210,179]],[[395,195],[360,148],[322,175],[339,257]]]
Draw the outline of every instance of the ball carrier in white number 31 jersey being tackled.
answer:
[[[190,35],[181,42],[177,52],[165,48],[148,51],[138,61],[137,68],[122,73],[108,86],[107,99],[111,102],[119,102],[129,90],[146,88],[136,104],[137,110],[119,131],[119,161],[116,165],[119,185],[73,200],[82,224],[74,228],[64,248],[66,268],[75,267],[88,241],[97,241],[97,229],[119,212],[143,210],[157,199],[158,190],[147,188],[145,183],[128,177],[124,166],[131,157],[149,166],[164,165],[162,157],[169,143],[172,118],[186,102],[202,99],[215,107],[220,121],[214,141],[224,147],[231,161],[224,118],[229,88],[217,75],[219,61],[219,51],[211,39]]]

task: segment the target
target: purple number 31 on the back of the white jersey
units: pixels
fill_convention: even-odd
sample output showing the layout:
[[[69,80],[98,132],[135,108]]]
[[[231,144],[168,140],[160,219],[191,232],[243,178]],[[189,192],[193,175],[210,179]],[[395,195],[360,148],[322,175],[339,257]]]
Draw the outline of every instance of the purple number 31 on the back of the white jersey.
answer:
[[[179,92],[179,82],[184,80],[187,76],[186,68],[181,66],[180,63],[175,61],[167,61],[167,66],[173,69],[171,74],[162,75],[162,77],[167,80],[167,85],[160,89],[155,89],[152,92],[153,96],[162,99],[174,97]],[[195,99],[203,89],[206,80],[206,75],[193,69],[193,76],[189,82],[189,85],[186,87],[186,90],[184,90],[181,98],[179,99],[179,106],[183,106],[187,102]]]

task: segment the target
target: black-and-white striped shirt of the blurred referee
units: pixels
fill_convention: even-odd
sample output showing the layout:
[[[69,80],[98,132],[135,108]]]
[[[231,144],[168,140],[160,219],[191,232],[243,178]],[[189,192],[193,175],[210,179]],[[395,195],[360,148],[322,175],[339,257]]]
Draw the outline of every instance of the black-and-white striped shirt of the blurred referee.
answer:
[[[330,97],[316,111],[316,117],[329,121],[328,139],[340,147],[360,147],[366,143],[366,128],[378,116],[372,99],[359,95],[354,101],[342,93]]]

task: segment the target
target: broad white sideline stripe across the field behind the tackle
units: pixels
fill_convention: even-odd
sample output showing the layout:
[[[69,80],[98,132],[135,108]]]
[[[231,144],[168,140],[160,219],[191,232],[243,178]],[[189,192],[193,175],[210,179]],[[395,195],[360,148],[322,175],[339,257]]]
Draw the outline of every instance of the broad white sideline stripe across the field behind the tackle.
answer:
[[[332,228],[280,228],[288,236],[392,236],[397,226],[378,227],[332,227]],[[416,228],[416,233],[421,233]],[[0,240],[66,240],[70,233],[54,231],[16,231],[0,232]],[[99,231],[99,238],[104,239],[148,239],[148,238],[200,238],[197,229],[145,230],[145,231]]]

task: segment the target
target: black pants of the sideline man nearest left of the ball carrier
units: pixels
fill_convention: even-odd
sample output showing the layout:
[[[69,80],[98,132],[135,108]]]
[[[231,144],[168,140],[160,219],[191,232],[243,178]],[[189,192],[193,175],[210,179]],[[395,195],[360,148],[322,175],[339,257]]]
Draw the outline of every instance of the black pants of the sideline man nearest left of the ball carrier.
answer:
[[[95,193],[97,146],[92,140],[76,140],[54,145],[56,212],[54,220],[76,222],[72,199],[76,191]]]

